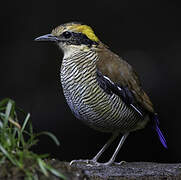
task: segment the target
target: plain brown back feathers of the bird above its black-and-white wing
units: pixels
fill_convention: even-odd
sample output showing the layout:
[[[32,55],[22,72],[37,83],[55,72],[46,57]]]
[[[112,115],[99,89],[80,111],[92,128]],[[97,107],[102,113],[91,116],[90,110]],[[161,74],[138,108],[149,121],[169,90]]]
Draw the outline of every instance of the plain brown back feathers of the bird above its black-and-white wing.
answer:
[[[99,45],[97,69],[120,87],[128,87],[137,103],[154,113],[153,104],[143,91],[138,75],[126,61],[111,52],[105,45]]]

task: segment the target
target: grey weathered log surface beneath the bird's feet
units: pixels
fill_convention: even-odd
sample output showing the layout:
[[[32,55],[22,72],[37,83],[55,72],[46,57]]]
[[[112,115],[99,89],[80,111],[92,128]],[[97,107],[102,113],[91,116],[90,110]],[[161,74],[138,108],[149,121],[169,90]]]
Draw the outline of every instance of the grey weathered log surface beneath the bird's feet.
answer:
[[[92,180],[181,180],[181,164],[126,162],[122,165],[89,166],[74,164]]]

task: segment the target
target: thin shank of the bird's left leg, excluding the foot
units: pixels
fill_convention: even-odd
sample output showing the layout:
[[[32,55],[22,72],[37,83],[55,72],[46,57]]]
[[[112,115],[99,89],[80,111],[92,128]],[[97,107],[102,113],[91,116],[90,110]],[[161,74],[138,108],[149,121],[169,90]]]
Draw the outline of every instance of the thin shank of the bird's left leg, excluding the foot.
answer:
[[[111,143],[117,138],[119,132],[114,133],[111,138],[106,142],[106,144],[102,147],[102,149],[96,154],[96,156],[92,159],[93,162],[97,162],[102,153],[111,145]]]

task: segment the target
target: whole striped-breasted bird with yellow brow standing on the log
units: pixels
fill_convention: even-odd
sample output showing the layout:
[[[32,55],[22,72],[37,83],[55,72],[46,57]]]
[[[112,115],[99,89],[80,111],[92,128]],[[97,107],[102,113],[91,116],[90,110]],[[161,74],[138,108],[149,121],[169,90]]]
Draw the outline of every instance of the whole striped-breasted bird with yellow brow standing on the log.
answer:
[[[69,22],[54,28],[35,41],[52,41],[63,52],[60,79],[65,99],[74,114],[89,127],[112,133],[110,139],[91,160],[73,160],[94,165],[112,165],[128,135],[152,122],[162,145],[167,142],[159,128],[158,114],[142,88],[133,67],[112,52],[84,23]],[[111,158],[100,156],[120,135]]]

